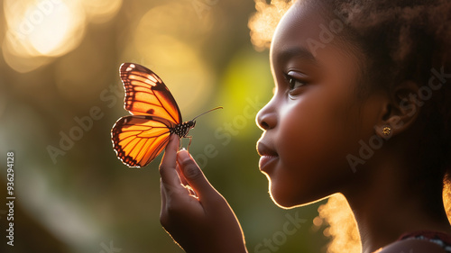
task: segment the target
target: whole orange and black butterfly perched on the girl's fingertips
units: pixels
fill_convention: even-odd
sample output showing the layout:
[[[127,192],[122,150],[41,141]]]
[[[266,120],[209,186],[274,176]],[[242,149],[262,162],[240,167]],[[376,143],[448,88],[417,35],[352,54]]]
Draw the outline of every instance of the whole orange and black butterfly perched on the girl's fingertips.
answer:
[[[117,158],[128,167],[144,167],[166,147],[170,134],[189,138],[190,144],[188,132],[198,117],[181,121],[179,106],[161,78],[136,63],[123,63],[119,72],[125,89],[124,108],[132,115],[120,118],[111,130]]]

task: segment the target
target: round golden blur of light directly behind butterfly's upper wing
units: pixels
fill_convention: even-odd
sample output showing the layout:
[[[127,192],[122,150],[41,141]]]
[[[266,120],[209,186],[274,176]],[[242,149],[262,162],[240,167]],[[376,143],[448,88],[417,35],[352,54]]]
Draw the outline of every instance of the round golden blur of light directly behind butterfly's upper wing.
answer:
[[[161,77],[179,106],[185,108],[184,115],[197,112],[203,105],[200,101],[207,101],[203,98],[213,92],[214,86],[212,71],[200,57],[202,49],[180,38],[186,32],[191,33],[190,23],[196,20],[191,5],[156,6],[143,15],[133,31],[133,41],[124,47],[127,58],[135,50],[137,63]]]

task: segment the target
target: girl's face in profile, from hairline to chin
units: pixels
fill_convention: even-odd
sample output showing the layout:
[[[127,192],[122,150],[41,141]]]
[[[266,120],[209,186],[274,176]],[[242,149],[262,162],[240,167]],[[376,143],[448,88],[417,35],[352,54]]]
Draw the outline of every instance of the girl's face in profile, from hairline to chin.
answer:
[[[357,98],[359,59],[340,38],[344,34],[331,32],[325,10],[308,2],[293,5],[274,34],[275,92],[257,115],[264,131],[260,168],[273,200],[284,207],[354,185],[360,174],[353,173],[346,155],[358,156],[359,140],[374,134],[383,109],[382,93]]]

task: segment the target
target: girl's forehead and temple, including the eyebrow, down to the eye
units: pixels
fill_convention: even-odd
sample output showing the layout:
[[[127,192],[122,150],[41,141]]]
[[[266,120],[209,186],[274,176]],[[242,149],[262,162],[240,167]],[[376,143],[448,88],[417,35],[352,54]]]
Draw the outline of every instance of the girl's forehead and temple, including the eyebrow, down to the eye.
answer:
[[[337,19],[332,19],[318,3],[310,2],[291,6],[281,19],[270,53],[273,73],[316,69],[325,77],[354,80],[362,68],[359,51],[341,38],[344,31],[331,31]]]

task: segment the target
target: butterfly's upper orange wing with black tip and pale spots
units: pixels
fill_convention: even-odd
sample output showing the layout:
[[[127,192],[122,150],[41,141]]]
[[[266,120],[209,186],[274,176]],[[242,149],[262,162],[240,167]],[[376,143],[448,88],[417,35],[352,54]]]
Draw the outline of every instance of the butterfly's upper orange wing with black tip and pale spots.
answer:
[[[168,87],[149,68],[123,63],[119,68],[124,83],[124,108],[133,115],[152,115],[179,124],[181,113]]]

